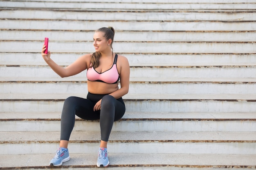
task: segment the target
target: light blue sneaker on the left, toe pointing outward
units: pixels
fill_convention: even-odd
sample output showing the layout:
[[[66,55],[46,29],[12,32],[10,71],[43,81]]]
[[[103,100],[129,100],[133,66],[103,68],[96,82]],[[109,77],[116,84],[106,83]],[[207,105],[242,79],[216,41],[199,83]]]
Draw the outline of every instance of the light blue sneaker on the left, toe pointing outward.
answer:
[[[62,150],[61,148],[58,148],[56,151],[56,155],[53,157],[53,159],[50,161],[50,166],[61,166],[63,162],[69,161],[70,155],[67,151]]]

